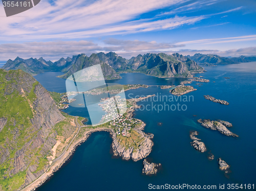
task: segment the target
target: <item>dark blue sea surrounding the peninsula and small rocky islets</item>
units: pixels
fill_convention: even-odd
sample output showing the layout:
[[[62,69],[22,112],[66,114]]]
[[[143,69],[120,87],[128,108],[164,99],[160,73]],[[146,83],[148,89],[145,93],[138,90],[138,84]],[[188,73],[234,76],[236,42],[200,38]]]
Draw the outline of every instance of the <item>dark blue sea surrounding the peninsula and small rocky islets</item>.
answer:
[[[194,100],[190,97],[190,102],[179,100],[165,103],[186,105],[185,111],[168,111],[167,108],[165,111],[135,111],[134,117],[146,123],[145,132],[155,135],[153,151],[148,157],[153,162],[162,164],[162,169],[156,176],[142,175],[142,160],[133,162],[112,158],[112,139],[109,133],[96,132],[76,149],[69,162],[37,190],[147,190],[148,184],[217,185],[217,190],[220,184],[225,184],[225,190],[227,184],[254,184],[255,187],[256,62],[211,66],[205,69],[206,73],[196,76],[203,76],[210,82],[202,83],[201,87],[196,85],[200,82],[193,82],[191,85],[197,90],[185,94],[187,98],[193,96]],[[65,80],[56,78],[60,74],[62,73],[44,73],[35,78],[50,91],[64,92]],[[122,79],[111,80],[108,83],[178,85],[184,80],[156,78],[139,73],[121,76]],[[171,96],[167,89],[160,87],[125,91],[127,99],[157,93],[159,97]],[[205,100],[203,95],[206,94],[230,104],[221,105]],[[148,100],[138,104],[146,106],[152,105],[152,102]],[[164,102],[155,100],[153,105],[164,105]],[[71,115],[88,117],[88,112],[84,108],[69,107],[64,111]],[[233,124],[230,131],[239,137],[228,137],[217,131],[205,129],[197,123],[199,118],[228,121]],[[158,126],[159,122],[163,125]],[[200,153],[190,146],[191,130],[199,132],[197,137],[205,143],[207,152]],[[215,155],[212,161],[207,159],[209,151]],[[219,157],[230,165],[231,172],[226,176],[219,170]]]

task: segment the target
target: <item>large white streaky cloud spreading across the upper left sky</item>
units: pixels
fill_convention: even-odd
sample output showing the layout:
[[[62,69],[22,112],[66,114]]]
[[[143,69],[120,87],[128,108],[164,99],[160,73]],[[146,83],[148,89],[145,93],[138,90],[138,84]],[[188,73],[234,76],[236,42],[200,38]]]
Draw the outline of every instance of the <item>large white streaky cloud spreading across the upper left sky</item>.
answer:
[[[135,30],[148,31],[156,30],[157,28],[154,29],[152,25],[157,23],[159,23],[158,28],[161,26],[170,28],[168,25],[172,20],[168,19],[162,19],[159,22],[147,19],[129,21],[148,11],[184,1],[99,0],[89,5],[87,3],[90,2],[84,0],[56,0],[53,5],[49,1],[41,1],[33,9],[18,16],[2,19],[0,40],[67,39]],[[3,6],[0,9],[2,9],[0,16],[5,17]]]

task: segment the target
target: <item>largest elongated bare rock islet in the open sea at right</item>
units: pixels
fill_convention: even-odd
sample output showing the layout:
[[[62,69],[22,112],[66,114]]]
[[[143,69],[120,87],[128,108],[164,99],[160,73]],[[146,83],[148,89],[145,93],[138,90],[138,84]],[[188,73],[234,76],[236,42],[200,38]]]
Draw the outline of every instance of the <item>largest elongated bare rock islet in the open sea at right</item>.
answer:
[[[229,131],[224,125],[222,125],[218,121],[210,121],[210,120],[201,120],[201,119],[199,119],[198,123],[201,123],[202,126],[208,128],[208,129],[218,130],[219,132],[221,132],[224,135],[238,137],[237,134],[234,134],[231,131]]]

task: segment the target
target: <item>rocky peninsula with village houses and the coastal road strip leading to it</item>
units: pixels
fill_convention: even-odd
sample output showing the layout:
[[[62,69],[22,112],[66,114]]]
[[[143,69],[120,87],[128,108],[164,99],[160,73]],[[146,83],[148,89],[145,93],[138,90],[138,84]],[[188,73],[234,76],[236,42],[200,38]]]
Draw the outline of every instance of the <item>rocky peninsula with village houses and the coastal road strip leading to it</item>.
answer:
[[[129,108],[127,108],[126,113],[111,122],[99,126],[83,125],[81,121],[84,120],[84,118],[77,117],[77,122],[75,121],[76,130],[71,134],[68,140],[65,141],[67,142],[66,147],[61,146],[61,149],[59,145],[55,145],[55,150],[62,152],[56,153],[54,159],[48,157],[49,167],[45,170],[45,173],[31,184],[27,185],[23,190],[34,190],[44,183],[72,156],[76,147],[86,141],[93,132],[110,132],[113,139],[112,149],[114,156],[120,156],[124,160],[132,159],[134,161],[147,157],[151,153],[152,146],[154,145],[151,140],[154,135],[152,133],[144,133],[142,130],[145,123],[132,118],[132,114],[134,109],[139,107],[136,102],[153,96],[155,95],[127,100]],[[66,114],[66,116],[68,115]],[[153,170],[153,172],[155,172],[155,170]]]

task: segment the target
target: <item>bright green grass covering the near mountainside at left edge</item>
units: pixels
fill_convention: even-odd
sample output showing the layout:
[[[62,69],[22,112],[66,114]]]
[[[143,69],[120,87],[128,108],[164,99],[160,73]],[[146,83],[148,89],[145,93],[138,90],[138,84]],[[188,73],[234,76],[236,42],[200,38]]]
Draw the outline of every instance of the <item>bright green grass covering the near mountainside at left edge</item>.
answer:
[[[19,70],[10,72],[22,75]],[[11,153],[9,159],[5,160],[0,166],[0,185],[3,190],[14,190],[24,183],[26,172],[19,172],[10,177],[8,171],[13,169],[15,152],[22,149],[26,142],[34,135],[30,122],[30,119],[33,118],[33,111],[30,108],[29,101],[32,102],[35,99],[35,94],[32,90],[26,92],[26,96],[22,97],[18,94],[17,90],[14,90],[12,94],[4,96],[6,89],[10,88],[9,85],[11,83],[17,84],[14,79],[7,82],[5,79],[6,74],[6,71],[0,69],[0,117],[5,117],[8,120],[0,132],[0,146],[3,149],[9,148]],[[33,84],[33,88],[35,88],[37,83]],[[19,130],[19,133],[15,136],[16,140],[8,141],[8,144],[6,144],[7,139],[13,139],[13,131],[15,129]]]

